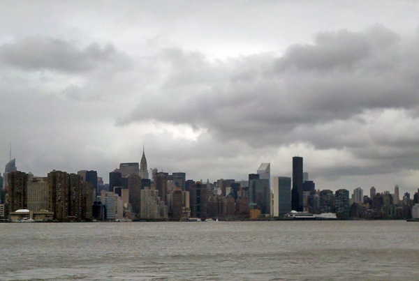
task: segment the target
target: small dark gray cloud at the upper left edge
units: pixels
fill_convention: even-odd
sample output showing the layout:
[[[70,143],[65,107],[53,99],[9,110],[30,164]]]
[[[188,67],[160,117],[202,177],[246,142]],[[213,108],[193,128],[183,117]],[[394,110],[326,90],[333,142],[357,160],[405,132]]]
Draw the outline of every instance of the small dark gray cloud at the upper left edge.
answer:
[[[31,36],[0,46],[0,61],[23,70],[57,70],[78,73],[118,58],[112,45],[91,43],[79,49],[64,40]]]

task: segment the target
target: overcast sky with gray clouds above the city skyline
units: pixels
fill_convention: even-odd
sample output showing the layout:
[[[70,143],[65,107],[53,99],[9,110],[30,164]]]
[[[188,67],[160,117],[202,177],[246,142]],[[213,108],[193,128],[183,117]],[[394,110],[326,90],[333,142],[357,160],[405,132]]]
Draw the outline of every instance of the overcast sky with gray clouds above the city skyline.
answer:
[[[419,187],[418,1],[1,1],[0,162]],[[3,174],[3,173],[2,173]]]

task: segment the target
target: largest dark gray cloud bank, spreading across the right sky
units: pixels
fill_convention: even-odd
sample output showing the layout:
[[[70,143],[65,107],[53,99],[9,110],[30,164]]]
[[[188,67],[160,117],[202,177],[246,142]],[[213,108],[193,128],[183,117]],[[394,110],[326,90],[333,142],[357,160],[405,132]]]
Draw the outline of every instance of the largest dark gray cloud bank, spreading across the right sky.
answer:
[[[418,70],[410,61],[418,54],[405,54],[400,41],[394,32],[373,26],[362,33],[319,33],[313,45],[293,45],[280,57],[210,61],[198,52],[166,51],[166,83],[153,98],[142,98],[122,123],[186,123],[221,139],[263,146],[305,140],[299,128],[310,132],[368,109],[417,107],[411,70]],[[328,131],[334,130],[339,127]],[[324,143],[314,139],[314,145]]]

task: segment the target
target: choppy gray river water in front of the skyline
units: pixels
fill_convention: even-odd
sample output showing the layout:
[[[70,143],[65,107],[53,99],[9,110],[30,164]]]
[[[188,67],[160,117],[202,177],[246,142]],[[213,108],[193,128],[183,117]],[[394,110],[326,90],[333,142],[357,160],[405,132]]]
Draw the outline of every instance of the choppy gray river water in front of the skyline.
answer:
[[[0,280],[419,280],[406,221],[0,224]]]

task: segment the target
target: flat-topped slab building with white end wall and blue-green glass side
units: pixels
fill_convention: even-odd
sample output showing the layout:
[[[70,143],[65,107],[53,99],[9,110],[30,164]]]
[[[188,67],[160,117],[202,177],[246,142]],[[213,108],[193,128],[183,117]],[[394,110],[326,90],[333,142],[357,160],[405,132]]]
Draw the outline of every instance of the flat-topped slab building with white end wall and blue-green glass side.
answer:
[[[274,176],[274,217],[291,212],[291,178]]]

